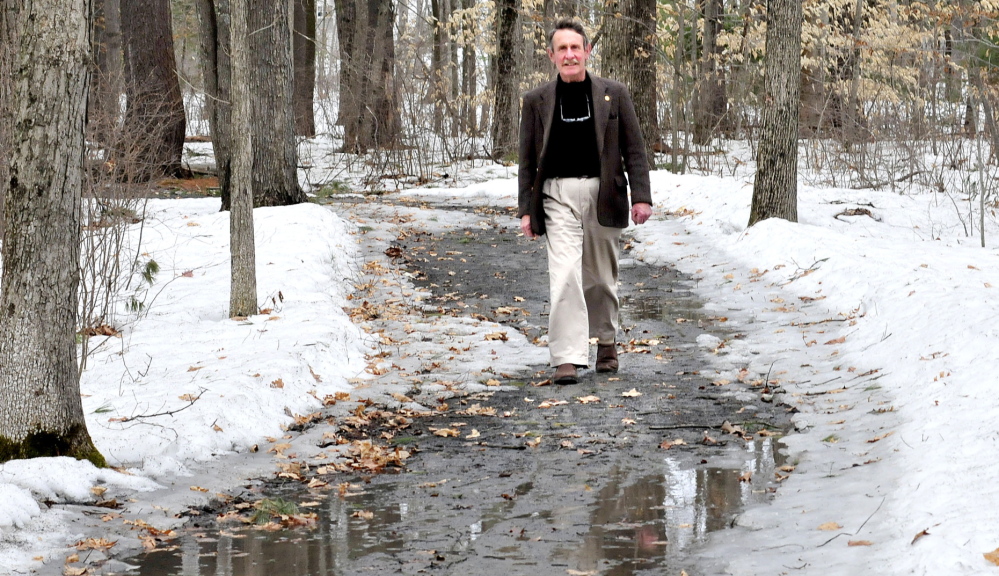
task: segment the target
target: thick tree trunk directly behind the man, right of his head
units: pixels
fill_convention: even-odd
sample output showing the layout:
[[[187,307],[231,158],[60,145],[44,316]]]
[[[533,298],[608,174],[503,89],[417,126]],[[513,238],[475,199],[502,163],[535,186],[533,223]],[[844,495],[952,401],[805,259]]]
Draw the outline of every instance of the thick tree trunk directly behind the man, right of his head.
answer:
[[[655,0],[619,0],[604,20],[601,74],[631,91],[649,161],[662,149],[656,94]]]

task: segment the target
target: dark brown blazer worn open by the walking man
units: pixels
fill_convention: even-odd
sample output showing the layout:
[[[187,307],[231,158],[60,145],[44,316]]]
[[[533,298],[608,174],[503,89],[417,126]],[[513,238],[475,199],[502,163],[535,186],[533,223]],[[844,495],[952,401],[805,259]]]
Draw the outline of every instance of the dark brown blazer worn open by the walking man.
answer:
[[[589,74],[589,72],[587,72]],[[609,228],[627,228],[631,204],[652,204],[649,161],[645,154],[638,115],[624,84],[589,74],[593,89],[593,120],[597,154],[600,156],[600,195],[597,220]],[[555,117],[555,84],[552,80],[524,95],[520,112],[519,210],[517,217],[531,216],[535,234],[545,233],[542,189],[545,183],[545,152]],[[628,200],[628,178],[631,201]]]

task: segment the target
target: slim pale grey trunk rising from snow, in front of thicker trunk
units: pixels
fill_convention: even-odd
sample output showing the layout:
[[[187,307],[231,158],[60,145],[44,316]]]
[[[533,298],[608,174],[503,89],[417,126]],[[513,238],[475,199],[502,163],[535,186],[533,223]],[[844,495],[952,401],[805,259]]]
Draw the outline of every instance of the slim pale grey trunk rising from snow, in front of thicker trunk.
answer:
[[[287,4],[285,4],[287,14]],[[245,2],[232,3],[232,189],[229,210],[229,254],[231,276],[229,316],[257,313],[257,270],[253,237],[253,149],[255,134],[251,116],[255,113],[251,90],[248,8]],[[276,26],[281,28],[281,26]],[[258,30],[252,28],[253,30]],[[287,31],[287,28],[285,28]],[[290,42],[290,38],[289,38]],[[289,106],[290,114],[290,106]]]

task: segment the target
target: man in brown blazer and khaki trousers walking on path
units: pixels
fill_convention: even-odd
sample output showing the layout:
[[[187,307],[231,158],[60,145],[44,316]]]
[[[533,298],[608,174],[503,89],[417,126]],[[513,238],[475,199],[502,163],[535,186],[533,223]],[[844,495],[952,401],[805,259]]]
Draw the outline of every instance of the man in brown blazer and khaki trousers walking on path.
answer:
[[[547,238],[556,384],[579,381],[590,338],[597,339],[597,372],[617,371],[618,239],[629,213],[636,224],[652,215],[631,95],[620,82],[586,71],[590,49],[579,20],[555,24],[548,58],[558,77],[524,96],[520,120],[517,215],[525,236]]]

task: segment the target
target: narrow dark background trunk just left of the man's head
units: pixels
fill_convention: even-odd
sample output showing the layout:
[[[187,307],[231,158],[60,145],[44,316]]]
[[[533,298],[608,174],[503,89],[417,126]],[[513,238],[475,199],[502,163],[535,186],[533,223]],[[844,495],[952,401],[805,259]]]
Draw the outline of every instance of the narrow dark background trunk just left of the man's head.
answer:
[[[492,157],[496,161],[512,161],[517,154],[520,102],[517,97],[516,29],[517,0],[497,0],[497,48],[493,72],[495,84],[491,131]]]

